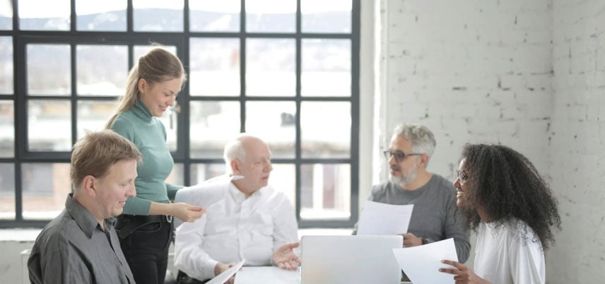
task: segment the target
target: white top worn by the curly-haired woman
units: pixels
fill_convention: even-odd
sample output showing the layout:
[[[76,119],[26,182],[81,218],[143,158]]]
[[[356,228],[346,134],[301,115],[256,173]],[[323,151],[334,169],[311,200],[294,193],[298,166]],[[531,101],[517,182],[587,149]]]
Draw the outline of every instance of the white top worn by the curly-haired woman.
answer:
[[[491,283],[544,284],[546,269],[540,239],[520,220],[501,227],[479,223],[475,273]]]

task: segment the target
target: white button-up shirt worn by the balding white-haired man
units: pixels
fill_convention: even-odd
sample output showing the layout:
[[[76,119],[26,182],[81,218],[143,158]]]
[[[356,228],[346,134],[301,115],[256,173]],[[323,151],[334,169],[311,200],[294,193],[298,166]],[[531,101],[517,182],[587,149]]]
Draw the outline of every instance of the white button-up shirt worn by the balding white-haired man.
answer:
[[[210,187],[225,190],[225,199],[208,206],[199,220],[176,230],[175,266],[189,277],[213,278],[218,261],[246,259],[247,266],[269,266],[275,249],[298,242],[295,211],[283,192],[263,187],[246,199],[228,177],[205,189]]]

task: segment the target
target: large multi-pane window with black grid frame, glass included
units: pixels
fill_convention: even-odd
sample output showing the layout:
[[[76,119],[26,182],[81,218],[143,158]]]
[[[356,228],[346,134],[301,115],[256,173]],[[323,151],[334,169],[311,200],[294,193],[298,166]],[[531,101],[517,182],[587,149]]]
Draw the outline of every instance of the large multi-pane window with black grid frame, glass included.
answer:
[[[0,226],[64,207],[70,150],[102,129],[127,72],[164,45],[189,80],[165,114],[173,184],[225,172],[242,131],[300,227],[358,216],[359,0],[0,0]]]

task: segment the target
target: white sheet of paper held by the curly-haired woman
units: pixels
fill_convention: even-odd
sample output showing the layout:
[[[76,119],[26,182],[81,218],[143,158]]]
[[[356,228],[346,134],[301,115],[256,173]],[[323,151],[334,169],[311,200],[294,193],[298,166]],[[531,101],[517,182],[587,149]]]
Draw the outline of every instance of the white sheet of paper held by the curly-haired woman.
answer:
[[[393,249],[395,259],[412,283],[454,283],[452,274],[439,272],[439,268],[454,268],[442,264],[444,259],[458,261],[454,239],[444,239],[418,247]]]

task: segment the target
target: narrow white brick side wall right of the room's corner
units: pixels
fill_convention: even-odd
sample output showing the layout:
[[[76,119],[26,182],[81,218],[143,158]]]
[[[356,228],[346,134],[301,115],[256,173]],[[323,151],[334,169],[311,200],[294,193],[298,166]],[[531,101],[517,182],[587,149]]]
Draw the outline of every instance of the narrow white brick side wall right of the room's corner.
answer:
[[[605,278],[605,2],[553,1],[551,186],[563,231],[548,252],[551,283]]]

